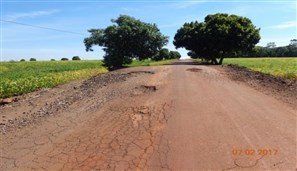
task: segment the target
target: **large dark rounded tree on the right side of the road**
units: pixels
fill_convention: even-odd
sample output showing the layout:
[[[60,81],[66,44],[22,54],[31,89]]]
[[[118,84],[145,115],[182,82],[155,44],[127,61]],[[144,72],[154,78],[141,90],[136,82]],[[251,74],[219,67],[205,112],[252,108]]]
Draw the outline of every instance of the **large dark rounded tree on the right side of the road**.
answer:
[[[222,64],[228,55],[251,51],[260,40],[259,32],[246,17],[217,13],[201,23],[185,23],[177,30],[173,44],[195,52],[197,58]]]

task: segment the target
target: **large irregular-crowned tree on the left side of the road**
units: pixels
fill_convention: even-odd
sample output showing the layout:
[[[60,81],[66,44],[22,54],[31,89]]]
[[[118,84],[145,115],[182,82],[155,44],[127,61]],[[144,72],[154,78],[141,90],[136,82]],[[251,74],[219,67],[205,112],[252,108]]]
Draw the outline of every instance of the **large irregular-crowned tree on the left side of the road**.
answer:
[[[151,58],[168,42],[168,37],[161,34],[156,24],[127,15],[111,21],[114,24],[105,29],[89,30],[90,37],[84,39],[86,51],[93,51],[93,45],[103,47],[104,63],[109,69],[129,64],[133,58]]]

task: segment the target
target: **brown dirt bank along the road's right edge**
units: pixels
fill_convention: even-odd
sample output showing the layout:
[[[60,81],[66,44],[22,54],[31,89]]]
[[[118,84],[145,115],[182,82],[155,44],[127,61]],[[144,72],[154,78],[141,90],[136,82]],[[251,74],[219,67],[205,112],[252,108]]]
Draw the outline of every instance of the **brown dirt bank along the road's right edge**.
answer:
[[[253,71],[238,65],[222,66],[231,79],[245,82],[255,89],[297,108],[297,81]]]

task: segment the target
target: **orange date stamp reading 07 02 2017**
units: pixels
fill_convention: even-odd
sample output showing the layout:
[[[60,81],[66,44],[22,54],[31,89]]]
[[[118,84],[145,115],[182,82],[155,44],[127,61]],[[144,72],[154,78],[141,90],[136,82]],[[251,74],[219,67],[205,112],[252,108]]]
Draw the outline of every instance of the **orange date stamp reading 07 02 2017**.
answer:
[[[233,149],[232,155],[234,156],[266,156],[266,155],[277,155],[277,149]]]

